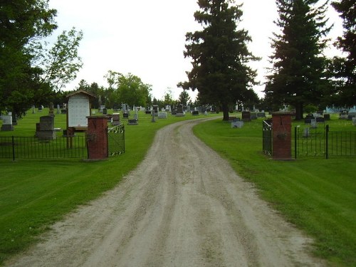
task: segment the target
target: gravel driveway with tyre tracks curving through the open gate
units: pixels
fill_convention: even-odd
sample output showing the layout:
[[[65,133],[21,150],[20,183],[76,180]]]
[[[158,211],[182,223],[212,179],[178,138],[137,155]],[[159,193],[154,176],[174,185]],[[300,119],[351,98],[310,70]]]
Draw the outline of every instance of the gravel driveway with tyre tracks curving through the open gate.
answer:
[[[118,187],[9,266],[324,266],[308,255],[309,239],[194,137],[198,122],[159,130]]]

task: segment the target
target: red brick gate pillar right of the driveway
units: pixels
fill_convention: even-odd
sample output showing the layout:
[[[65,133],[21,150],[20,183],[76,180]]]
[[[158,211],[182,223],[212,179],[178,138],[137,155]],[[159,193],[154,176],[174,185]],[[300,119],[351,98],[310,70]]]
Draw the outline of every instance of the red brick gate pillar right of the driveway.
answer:
[[[292,114],[272,113],[273,159],[292,159]]]

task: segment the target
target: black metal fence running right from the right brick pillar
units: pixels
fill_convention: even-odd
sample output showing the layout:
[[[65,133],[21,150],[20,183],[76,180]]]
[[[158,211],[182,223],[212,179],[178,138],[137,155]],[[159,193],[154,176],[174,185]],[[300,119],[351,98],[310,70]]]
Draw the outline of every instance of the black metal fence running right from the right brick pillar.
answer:
[[[325,127],[295,127],[295,158],[356,156],[356,131],[331,131]]]

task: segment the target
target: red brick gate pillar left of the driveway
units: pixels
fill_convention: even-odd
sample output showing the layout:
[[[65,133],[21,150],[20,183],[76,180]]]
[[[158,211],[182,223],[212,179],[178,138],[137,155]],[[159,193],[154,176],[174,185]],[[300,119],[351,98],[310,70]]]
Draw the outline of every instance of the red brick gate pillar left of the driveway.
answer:
[[[88,159],[108,158],[108,117],[89,116],[86,139]]]

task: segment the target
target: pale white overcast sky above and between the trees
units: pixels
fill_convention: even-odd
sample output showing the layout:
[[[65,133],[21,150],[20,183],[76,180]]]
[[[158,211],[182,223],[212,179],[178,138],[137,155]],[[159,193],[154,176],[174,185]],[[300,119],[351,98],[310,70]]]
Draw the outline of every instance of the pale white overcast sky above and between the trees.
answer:
[[[49,4],[58,11],[56,35],[73,26],[83,31],[78,51],[83,68],[67,90],[82,79],[106,86],[103,76],[113,70],[137,75],[152,85],[152,95],[158,99],[167,88],[174,99],[182,92],[177,83],[187,80],[185,72],[192,69],[189,58],[183,56],[185,34],[200,27],[194,21],[194,11],[199,9],[196,0],[50,0]],[[276,31],[273,21],[278,19],[275,0],[245,0],[243,9],[240,26],[252,37],[250,50],[262,58],[253,68],[263,82],[271,55],[269,38]],[[332,8],[329,16],[335,22],[331,37],[340,36],[341,21]],[[253,89],[263,96],[263,86]]]

